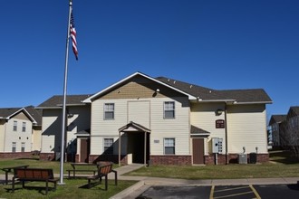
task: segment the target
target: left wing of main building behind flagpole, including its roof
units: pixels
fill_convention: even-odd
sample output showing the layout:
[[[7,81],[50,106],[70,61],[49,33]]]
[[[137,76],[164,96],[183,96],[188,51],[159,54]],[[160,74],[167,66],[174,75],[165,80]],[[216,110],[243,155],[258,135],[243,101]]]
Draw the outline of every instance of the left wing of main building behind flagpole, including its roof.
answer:
[[[65,147],[67,148],[68,160],[74,161],[76,151],[83,151],[80,162],[86,162],[89,154],[89,140],[91,128],[90,105],[82,103],[82,100],[91,95],[69,95],[66,100],[66,134]],[[45,100],[36,109],[43,109],[43,137],[42,154],[43,159],[58,159],[61,152],[62,136],[62,109],[63,96],[53,96]],[[78,141],[79,140],[79,143]],[[81,145],[84,145],[81,147]],[[79,147],[77,149],[77,146]]]

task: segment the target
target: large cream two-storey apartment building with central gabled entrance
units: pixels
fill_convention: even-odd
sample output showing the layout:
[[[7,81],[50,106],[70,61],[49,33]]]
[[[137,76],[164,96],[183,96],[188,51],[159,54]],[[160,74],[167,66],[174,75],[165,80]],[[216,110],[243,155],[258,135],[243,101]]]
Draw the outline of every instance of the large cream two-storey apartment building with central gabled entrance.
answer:
[[[63,96],[43,109],[43,158],[60,156]],[[203,165],[268,160],[263,89],[212,90],[140,72],[94,95],[67,96],[66,147],[77,162]],[[216,158],[217,157],[217,158]]]

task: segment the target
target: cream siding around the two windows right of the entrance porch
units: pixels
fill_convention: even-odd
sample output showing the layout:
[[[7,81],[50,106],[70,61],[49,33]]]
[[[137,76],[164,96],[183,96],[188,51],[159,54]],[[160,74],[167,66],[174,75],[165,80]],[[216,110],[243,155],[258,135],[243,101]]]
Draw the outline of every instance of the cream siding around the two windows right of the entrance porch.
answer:
[[[165,101],[175,101],[175,118],[164,118]],[[164,138],[175,138],[175,155],[190,155],[188,98],[151,100],[150,155],[164,155]]]

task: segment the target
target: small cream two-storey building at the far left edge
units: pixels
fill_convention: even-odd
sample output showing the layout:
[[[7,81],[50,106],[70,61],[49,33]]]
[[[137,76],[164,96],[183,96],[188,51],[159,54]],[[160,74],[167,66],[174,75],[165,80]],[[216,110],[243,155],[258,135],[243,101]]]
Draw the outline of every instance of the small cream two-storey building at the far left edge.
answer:
[[[33,106],[0,109],[0,156],[26,157],[41,150],[42,112]]]

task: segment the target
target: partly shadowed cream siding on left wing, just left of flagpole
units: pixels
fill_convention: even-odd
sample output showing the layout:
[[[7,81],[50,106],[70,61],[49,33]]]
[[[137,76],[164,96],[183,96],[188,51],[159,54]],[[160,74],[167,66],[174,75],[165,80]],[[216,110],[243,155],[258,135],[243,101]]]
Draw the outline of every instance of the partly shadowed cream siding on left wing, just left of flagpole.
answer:
[[[42,153],[59,151],[61,146],[62,109],[43,109]],[[55,146],[56,145],[56,146]]]

